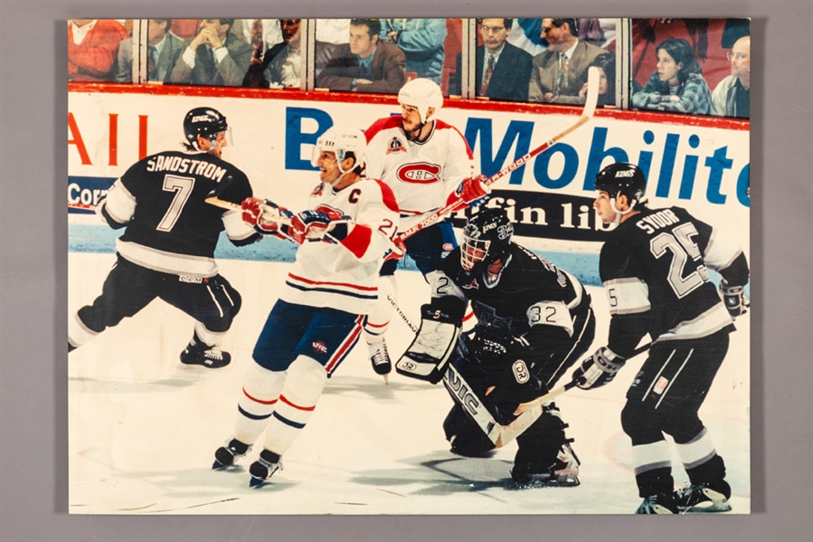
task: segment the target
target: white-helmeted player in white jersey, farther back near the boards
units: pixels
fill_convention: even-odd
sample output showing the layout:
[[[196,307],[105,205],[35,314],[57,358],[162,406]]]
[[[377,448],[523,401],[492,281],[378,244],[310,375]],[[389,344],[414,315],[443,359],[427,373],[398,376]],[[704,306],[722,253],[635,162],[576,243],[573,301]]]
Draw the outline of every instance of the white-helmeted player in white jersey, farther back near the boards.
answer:
[[[434,81],[414,79],[398,94],[401,115],[378,119],[364,131],[367,138],[367,176],[392,188],[401,210],[401,231],[420,223],[428,214],[461,198],[472,204],[487,195],[485,176],[474,176],[474,161],[466,139],[457,128],[437,118],[443,94]],[[407,253],[424,277],[440,266],[458,243],[451,221],[442,221],[405,241]],[[397,261],[387,261],[380,286],[396,294]],[[376,373],[392,370],[384,332],[392,305],[382,295],[370,315],[364,338]]]

